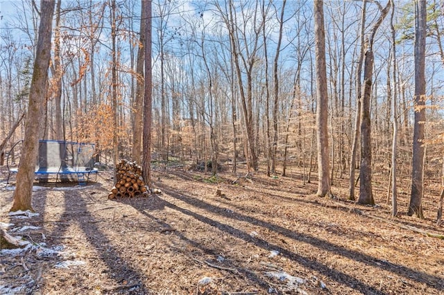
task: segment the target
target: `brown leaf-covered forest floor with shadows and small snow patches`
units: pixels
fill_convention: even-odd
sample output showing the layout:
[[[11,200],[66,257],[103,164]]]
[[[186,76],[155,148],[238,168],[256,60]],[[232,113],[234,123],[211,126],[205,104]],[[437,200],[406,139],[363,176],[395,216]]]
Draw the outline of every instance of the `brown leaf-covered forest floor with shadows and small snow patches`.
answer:
[[[377,206],[359,206],[345,179],[321,198],[296,171],[154,170],[161,194],[112,200],[101,172],[87,186],[35,183],[39,215],[24,218],[8,215],[0,169],[0,222],[31,242],[0,252],[0,294],[444,294],[444,240],[411,230],[443,234],[432,185],[418,220],[407,184],[390,217],[377,177]]]

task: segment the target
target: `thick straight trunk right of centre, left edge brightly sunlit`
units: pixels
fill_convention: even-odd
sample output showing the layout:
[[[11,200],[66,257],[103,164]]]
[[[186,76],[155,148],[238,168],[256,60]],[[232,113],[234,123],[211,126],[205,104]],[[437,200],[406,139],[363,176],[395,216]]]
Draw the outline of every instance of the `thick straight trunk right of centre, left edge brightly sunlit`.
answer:
[[[316,129],[318,134],[318,192],[320,197],[330,193],[330,159],[328,154],[328,96],[325,65],[325,28],[323,0],[314,1],[314,42],[316,51]]]

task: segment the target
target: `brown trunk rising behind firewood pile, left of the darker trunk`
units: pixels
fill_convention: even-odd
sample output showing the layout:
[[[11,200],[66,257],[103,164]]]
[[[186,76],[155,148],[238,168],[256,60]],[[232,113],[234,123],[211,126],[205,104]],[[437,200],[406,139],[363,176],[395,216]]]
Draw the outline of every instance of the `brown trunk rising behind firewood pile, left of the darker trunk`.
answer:
[[[144,105],[144,57],[145,57],[145,12],[146,1],[141,0],[141,12],[140,12],[140,30],[139,30],[139,48],[137,50],[137,62],[136,62],[136,99],[133,109],[134,114],[134,132],[133,132],[133,161],[136,163],[141,162],[142,152],[142,111]]]

